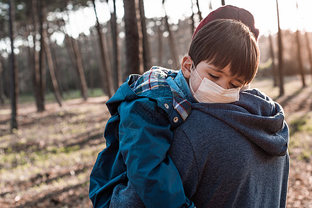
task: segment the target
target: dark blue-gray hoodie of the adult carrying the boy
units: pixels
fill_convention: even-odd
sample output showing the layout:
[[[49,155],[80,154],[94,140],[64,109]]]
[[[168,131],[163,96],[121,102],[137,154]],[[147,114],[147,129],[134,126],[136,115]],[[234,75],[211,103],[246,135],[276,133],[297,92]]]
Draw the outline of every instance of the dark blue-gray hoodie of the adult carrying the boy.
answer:
[[[287,148],[284,111],[252,89],[235,103],[193,104],[168,154],[196,207],[286,207]],[[144,205],[128,183],[116,187],[111,207]]]

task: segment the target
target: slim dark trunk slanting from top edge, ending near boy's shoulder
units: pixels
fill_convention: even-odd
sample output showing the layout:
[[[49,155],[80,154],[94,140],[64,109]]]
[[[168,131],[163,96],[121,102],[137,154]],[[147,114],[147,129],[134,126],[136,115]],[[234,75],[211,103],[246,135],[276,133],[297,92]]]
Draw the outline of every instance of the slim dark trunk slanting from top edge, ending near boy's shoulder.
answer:
[[[96,30],[98,31],[98,40],[100,43],[100,52],[101,52],[101,60],[102,60],[102,67],[104,72],[103,84],[104,89],[103,91],[107,94],[107,96],[112,96],[114,94],[114,87],[112,84],[112,71],[110,67],[110,62],[108,55],[106,54],[106,40],[105,36],[102,34],[100,22],[98,21],[98,15],[96,13],[96,5],[95,0],[92,0],[94,6],[94,12],[96,15]]]

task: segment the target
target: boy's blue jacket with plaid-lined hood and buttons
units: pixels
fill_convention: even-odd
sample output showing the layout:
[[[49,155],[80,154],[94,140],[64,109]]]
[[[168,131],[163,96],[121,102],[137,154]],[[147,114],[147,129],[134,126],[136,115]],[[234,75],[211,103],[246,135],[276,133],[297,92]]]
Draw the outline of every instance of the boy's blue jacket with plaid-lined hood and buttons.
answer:
[[[173,129],[191,112],[191,104],[168,84],[177,71],[154,67],[131,75],[107,101],[112,115],[90,175],[94,207],[109,207],[117,184],[130,182],[146,207],[193,207],[167,151]]]

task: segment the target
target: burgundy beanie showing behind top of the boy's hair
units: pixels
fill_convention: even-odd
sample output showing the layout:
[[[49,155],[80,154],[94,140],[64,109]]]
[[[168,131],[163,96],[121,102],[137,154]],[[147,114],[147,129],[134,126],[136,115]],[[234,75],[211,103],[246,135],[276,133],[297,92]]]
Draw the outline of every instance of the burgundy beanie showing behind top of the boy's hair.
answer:
[[[213,21],[215,19],[235,19],[241,21],[243,24],[250,28],[250,31],[254,34],[256,40],[258,40],[259,30],[254,27],[254,16],[248,10],[243,8],[238,8],[236,6],[223,6],[209,13],[207,17],[200,21],[195,32],[193,33],[192,39],[195,37],[196,33],[205,26],[205,24]]]

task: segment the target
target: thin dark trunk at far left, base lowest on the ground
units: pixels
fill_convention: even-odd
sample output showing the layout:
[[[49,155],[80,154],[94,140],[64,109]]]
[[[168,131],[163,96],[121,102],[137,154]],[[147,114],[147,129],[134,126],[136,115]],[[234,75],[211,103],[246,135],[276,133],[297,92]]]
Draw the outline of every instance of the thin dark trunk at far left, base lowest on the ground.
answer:
[[[17,129],[17,101],[19,95],[19,80],[18,80],[18,70],[17,62],[15,60],[14,54],[14,39],[15,39],[15,3],[14,0],[8,0],[9,4],[9,36],[10,36],[10,75],[11,75],[11,107],[12,107],[12,117],[11,117],[11,132]]]

